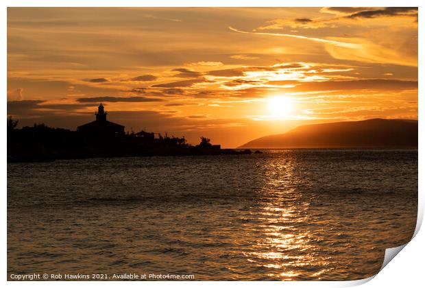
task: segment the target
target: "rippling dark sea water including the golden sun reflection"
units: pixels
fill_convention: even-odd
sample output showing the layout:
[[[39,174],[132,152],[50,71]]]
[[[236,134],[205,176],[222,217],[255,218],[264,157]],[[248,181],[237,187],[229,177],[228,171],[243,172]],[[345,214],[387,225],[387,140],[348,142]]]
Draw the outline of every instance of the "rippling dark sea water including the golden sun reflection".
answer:
[[[417,150],[8,164],[8,274],[355,280],[411,239]]]

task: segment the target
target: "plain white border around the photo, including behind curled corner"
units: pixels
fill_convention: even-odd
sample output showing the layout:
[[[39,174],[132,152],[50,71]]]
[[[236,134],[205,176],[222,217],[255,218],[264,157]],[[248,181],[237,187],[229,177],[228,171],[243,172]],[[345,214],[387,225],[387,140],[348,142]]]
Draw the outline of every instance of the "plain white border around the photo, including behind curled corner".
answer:
[[[94,287],[117,287],[119,286],[135,286],[140,285],[144,286],[162,286],[162,285],[173,285],[175,287],[196,287],[201,284],[204,287],[211,287],[216,285],[224,285],[229,287],[236,287],[243,285],[243,287],[258,287],[259,285],[264,286],[277,286],[284,285],[285,287],[346,287],[352,285],[359,285],[361,283],[365,283],[368,280],[374,278],[374,280],[369,281],[365,287],[419,287],[420,283],[423,283],[423,257],[424,257],[424,247],[422,243],[425,243],[424,232],[419,230],[420,225],[422,224],[422,219],[424,215],[424,196],[423,196],[423,181],[424,179],[424,169],[422,165],[424,163],[424,154],[422,153],[422,149],[424,149],[424,13],[425,9],[424,1],[397,1],[397,0],[357,0],[357,1],[335,1],[335,0],[326,0],[326,1],[318,1],[318,0],[299,0],[299,1],[271,1],[271,0],[203,0],[203,1],[194,1],[194,0],[184,0],[184,1],[165,1],[165,0],[156,0],[156,1],[131,1],[131,0],[74,0],[74,1],[54,1],[54,0],[42,0],[42,1],[30,1],[30,0],[5,0],[1,1],[1,10],[0,10],[0,21],[1,21],[1,57],[0,57],[0,69],[1,69],[1,80],[0,80],[0,88],[1,95],[4,97],[3,101],[0,104],[0,109],[3,117],[7,115],[6,110],[6,93],[7,93],[7,7],[25,7],[25,6],[44,6],[44,7],[267,7],[267,6],[275,6],[275,7],[321,7],[321,6],[356,6],[356,7],[383,7],[383,6],[413,6],[419,7],[420,16],[419,16],[419,90],[418,93],[420,95],[418,101],[418,117],[419,117],[419,211],[418,211],[418,220],[417,220],[417,229],[415,230],[414,239],[406,245],[400,254],[396,257],[396,261],[391,261],[380,273],[376,276],[359,281],[346,281],[346,282],[143,282],[143,283],[127,283],[127,282],[89,282],[89,283],[78,283],[78,285],[86,286],[94,286]],[[5,139],[4,135],[6,135],[5,125],[0,126],[1,131],[0,135],[3,135],[2,139]],[[421,131],[422,130],[422,131]],[[7,225],[6,225],[6,211],[7,211],[7,196],[6,196],[6,175],[7,175],[7,165],[6,165],[6,141],[1,141],[1,148],[3,149],[3,153],[1,154],[0,161],[2,163],[2,172],[1,173],[1,195],[2,198],[2,209],[3,213],[1,213],[1,227],[3,230],[1,237],[1,246],[2,250],[2,261],[1,261],[1,272],[2,278],[4,282],[7,282],[7,258],[6,258],[6,249],[7,249]],[[8,286],[27,286],[31,285],[32,287],[56,287],[57,285],[64,287],[72,287],[75,283],[61,281],[60,283],[55,282],[11,282],[8,281],[5,283]]]

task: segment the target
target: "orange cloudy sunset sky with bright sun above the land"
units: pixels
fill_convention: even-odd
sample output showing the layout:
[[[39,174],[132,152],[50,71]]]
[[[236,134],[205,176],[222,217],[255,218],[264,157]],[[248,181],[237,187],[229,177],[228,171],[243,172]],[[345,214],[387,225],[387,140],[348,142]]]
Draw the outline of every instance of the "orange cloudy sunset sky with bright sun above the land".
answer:
[[[417,119],[417,8],[8,8],[8,115],[236,147]]]

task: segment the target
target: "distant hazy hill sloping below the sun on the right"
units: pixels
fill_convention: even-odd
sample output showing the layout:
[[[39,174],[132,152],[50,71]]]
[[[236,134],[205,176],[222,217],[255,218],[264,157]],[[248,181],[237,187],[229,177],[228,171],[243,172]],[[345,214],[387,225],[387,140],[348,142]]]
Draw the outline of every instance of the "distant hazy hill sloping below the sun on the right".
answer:
[[[417,147],[417,120],[369,119],[302,125],[238,148]]]

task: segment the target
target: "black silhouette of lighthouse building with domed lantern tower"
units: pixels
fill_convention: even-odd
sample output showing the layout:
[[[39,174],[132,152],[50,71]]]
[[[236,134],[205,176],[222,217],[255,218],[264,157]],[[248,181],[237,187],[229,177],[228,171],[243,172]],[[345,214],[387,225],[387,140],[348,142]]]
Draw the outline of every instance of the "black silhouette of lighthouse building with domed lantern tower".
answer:
[[[104,106],[100,104],[97,108],[96,120],[78,126],[77,131],[92,135],[124,134],[124,126],[106,120],[106,115],[108,115],[108,113],[105,112]]]

